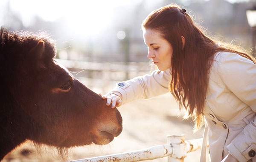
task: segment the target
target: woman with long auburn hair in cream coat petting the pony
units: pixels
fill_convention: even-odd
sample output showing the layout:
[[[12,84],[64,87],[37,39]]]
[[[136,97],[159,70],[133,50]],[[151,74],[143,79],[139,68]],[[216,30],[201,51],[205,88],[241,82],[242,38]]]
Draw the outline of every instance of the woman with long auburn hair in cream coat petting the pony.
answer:
[[[206,125],[201,161],[209,137],[212,162],[256,162],[253,57],[205,36],[177,5],[152,11],[142,28],[148,58],[159,70],[117,84],[102,96],[107,105],[171,92],[180,108],[195,117],[195,130]]]

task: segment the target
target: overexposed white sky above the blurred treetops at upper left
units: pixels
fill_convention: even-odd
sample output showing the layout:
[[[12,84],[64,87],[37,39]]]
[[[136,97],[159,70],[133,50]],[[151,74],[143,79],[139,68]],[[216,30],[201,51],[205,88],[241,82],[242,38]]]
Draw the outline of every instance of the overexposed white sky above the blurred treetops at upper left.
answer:
[[[66,29],[87,36],[110,25],[114,8],[140,3],[140,0],[1,0],[0,9],[6,9],[8,3],[10,10],[20,16],[24,27],[34,25],[35,16],[51,22],[64,19]],[[0,23],[3,17],[1,20]]]

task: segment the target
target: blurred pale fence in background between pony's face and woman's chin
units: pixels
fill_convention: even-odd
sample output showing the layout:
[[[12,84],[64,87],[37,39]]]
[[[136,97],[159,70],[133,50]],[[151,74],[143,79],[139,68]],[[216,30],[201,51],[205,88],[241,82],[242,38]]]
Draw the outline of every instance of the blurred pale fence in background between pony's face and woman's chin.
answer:
[[[64,65],[76,78],[89,88],[97,87],[101,92],[108,92],[119,81],[150,73],[147,62],[88,62],[55,59]]]

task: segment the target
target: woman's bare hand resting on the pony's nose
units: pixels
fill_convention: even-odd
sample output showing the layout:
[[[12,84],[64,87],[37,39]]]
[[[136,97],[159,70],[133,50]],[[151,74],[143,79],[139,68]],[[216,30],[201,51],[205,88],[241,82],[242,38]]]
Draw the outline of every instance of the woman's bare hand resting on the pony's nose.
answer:
[[[110,94],[106,94],[103,96],[102,96],[102,94],[99,94],[99,95],[102,96],[102,99],[107,99],[106,105],[109,106],[111,104],[111,108],[113,109],[116,106],[122,105],[122,95],[121,95],[121,93],[118,93],[118,94],[119,95],[117,95],[115,93],[110,93]]]

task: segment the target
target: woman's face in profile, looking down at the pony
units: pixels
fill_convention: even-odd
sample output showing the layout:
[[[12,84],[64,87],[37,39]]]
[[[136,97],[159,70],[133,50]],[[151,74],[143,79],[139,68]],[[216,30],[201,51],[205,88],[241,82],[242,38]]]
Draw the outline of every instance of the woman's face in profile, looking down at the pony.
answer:
[[[172,66],[172,45],[156,31],[146,29],[143,32],[145,44],[148,46],[148,59],[161,71]]]

